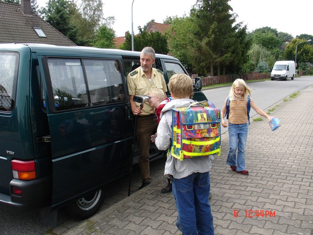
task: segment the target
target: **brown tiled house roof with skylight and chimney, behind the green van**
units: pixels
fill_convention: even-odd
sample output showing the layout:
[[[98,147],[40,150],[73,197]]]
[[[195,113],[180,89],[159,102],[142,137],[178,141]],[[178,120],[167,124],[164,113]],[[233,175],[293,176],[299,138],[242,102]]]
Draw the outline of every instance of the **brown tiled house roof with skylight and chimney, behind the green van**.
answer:
[[[0,1],[0,43],[46,43],[60,46],[76,44],[31,12],[30,0],[21,5]],[[39,37],[34,28],[40,28],[46,37]]]

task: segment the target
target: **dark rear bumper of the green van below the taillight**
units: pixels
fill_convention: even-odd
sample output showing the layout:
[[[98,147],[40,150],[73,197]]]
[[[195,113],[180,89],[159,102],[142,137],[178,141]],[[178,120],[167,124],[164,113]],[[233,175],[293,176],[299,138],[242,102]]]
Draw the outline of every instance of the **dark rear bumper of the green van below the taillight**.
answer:
[[[21,196],[11,194],[11,187],[19,187]],[[51,205],[52,176],[35,180],[12,179],[10,195],[0,193],[0,208],[18,213],[37,211]]]

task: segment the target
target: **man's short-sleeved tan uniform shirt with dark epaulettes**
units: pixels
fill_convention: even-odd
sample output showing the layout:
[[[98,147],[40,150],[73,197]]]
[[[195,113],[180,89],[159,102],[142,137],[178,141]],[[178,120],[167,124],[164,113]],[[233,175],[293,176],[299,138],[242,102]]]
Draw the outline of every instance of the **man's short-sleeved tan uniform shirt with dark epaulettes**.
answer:
[[[127,85],[130,95],[148,96],[149,91],[152,88],[160,88],[164,92],[167,91],[163,73],[155,68],[152,68],[151,82],[149,81],[149,78],[142,70],[142,68],[139,67],[127,76]],[[140,103],[137,103],[137,106],[139,105]],[[154,108],[148,102],[145,102],[142,111],[143,113],[141,115],[149,115],[155,113]]]

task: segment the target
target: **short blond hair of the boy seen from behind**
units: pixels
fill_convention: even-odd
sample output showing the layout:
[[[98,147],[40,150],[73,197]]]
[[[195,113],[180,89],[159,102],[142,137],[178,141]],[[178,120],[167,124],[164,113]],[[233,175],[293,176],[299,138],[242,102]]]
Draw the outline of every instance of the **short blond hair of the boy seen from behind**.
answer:
[[[185,98],[193,95],[193,84],[191,78],[186,74],[174,74],[168,82],[168,90],[172,96]]]

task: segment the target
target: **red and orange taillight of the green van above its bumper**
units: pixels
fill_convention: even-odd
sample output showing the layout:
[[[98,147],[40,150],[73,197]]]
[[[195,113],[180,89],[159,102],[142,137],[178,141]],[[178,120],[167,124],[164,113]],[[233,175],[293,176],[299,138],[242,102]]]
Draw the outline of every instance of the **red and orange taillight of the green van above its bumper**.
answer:
[[[22,180],[30,180],[36,178],[36,167],[35,161],[20,161],[20,160],[12,160],[12,173],[13,178],[22,179]]]

